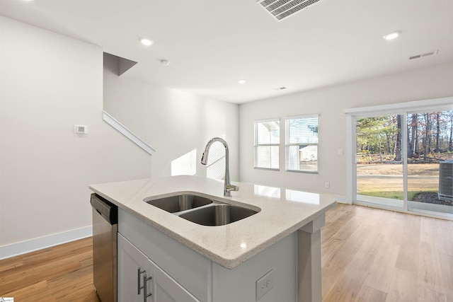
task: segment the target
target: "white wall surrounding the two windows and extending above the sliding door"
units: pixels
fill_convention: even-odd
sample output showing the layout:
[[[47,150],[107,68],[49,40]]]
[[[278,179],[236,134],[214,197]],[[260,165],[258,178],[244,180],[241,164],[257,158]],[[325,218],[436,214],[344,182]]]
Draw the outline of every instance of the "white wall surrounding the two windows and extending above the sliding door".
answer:
[[[349,134],[343,110],[451,96],[452,83],[453,63],[450,63],[240,105],[239,177],[245,182],[345,197],[345,151]],[[280,171],[253,169],[254,120],[280,117],[283,123],[288,116],[314,113],[319,113],[319,174],[285,172],[284,149],[280,149],[283,155]],[[285,137],[282,138],[284,141]],[[343,156],[338,155],[338,149],[343,149]],[[324,187],[325,182],[330,182],[330,189]]]

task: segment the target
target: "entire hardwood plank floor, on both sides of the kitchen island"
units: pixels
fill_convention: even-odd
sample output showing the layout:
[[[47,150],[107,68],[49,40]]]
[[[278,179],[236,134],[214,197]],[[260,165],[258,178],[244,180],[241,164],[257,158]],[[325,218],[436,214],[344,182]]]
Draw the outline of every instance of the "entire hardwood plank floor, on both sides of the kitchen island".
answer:
[[[453,301],[453,221],[338,204],[321,240],[324,302]],[[2,260],[0,297],[98,302],[92,256],[86,238]]]

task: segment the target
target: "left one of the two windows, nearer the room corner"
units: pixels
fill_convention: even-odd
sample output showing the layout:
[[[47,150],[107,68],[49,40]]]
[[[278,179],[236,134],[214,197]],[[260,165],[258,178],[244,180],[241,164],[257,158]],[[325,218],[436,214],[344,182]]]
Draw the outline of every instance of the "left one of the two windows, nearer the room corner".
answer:
[[[280,169],[280,120],[255,121],[255,168]]]

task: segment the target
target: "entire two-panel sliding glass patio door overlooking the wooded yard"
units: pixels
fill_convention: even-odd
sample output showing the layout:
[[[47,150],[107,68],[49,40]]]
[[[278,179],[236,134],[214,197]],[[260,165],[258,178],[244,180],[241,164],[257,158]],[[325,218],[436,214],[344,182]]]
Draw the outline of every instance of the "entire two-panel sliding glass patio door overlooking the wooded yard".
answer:
[[[453,111],[413,110],[353,119],[355,201],[453,214]]]

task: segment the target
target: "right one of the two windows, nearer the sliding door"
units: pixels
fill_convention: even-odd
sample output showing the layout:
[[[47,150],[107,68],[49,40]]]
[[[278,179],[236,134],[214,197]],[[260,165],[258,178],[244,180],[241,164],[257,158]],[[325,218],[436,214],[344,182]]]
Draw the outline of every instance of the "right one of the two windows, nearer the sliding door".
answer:
[[[286,170],[318,172],[318,115],[286,120]]]

